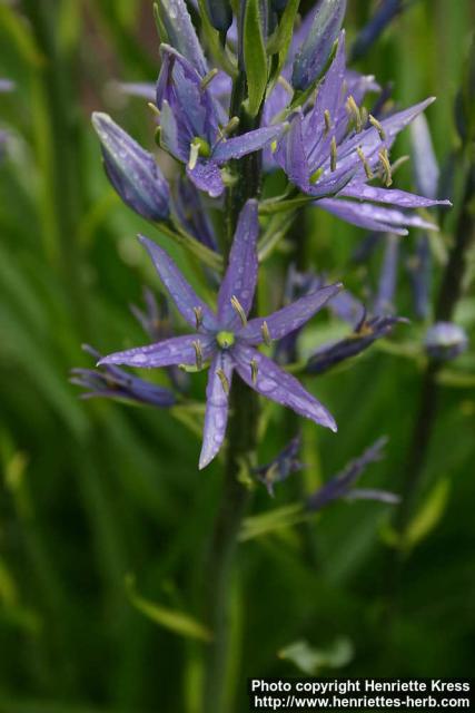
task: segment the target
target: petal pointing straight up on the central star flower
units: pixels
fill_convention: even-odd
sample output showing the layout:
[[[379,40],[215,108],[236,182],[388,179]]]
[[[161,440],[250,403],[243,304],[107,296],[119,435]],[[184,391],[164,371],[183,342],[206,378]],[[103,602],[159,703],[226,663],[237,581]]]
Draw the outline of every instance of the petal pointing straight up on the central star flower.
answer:
[[[239,215],[229,265],[218,294],[218,321],[231,330],[241,324],[231,297],[237,297],[246,316],[253,305],[257,283],[258,235],[257,201],[248,201]]]

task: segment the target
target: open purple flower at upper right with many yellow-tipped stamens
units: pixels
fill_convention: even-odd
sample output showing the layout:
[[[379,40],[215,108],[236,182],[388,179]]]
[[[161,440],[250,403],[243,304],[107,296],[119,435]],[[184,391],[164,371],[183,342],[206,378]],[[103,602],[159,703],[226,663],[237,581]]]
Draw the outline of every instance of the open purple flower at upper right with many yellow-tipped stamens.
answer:
[[[345,32],[314,106],[299,108],[280,138],[275,159],[293,184],[315,196],[319,208],[370,231],[407,234],[407,226],[437,229],[406,209],[451,205],[389,189],[393,183],[389,149],[396,136],[434,99],[378,120],[360,102],[368,78],[348,81]],[[383,187],[373,185],[374,178]]]

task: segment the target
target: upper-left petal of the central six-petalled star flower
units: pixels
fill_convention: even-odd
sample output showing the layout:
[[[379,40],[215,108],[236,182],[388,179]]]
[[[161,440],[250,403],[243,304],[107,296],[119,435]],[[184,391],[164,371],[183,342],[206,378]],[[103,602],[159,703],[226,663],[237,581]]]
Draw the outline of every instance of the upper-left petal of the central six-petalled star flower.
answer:
[[[196,307],[201,310],[202,325],[205,329],[216,328],[216,318],[209,306],[196,294],[189,282],[185,280],[175,262],[159,245],[139,235],[139,241],[146,247],[154,265],[160,275],[160,280],[167,289],[178,311],[191,326],[196,328]]]

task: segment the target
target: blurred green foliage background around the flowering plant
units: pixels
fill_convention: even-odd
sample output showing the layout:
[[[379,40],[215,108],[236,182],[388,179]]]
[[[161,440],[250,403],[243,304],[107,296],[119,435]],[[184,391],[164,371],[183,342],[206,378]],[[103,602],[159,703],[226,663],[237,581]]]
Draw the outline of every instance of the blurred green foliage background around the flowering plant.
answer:
[[[375,6],[349,0],[350,39]],[[453,104],[474,16],[472,0],[419,0],[357,65],[394,80],[403,105],[438,97],[428,119],[442,163],[456,143]],[[155,80],[151,17],[148,0],[0,1],[0,77],[16,82],[0,95],[0,126],[10,134],[0,165],[1,713],[199,711],[206,644],[144,616],[125,578],[132,575],[147,600],[200,618],[219,463],[197,471],[194,422],[81,402],[68,383],[71,367],[90,364],[82,342],[110,352],[145,341],[128,305],[140,303],[142,285],[159,289],[135,234],[162,238],[109,187],[89,120],[91,110],[109,111],[151,147],[150,111],[113,84]],[[410,187],[410,170],[398,183]],[[357,290],[348,257],[363,232],[317,212],[308,221],[311,263]],[[270,261],[267,284],[279,284],[280,262]],[[402,274],[403,307],[406,282]],[[466,297],[459,316],[472,332],[474,313]],[[419,339],[422,329],[399,331],[399,340]],[[323,318],[306,339],[317,344],[335,330]],[[473,356],[462,367],[473,373]],[[305,424],[309,467],[277,488],[275,501],[258,489],[255,514],[315,488],[383,433],[387,457],[365,485],[400,489],[419,363],[374,348],[311,384],[339,433]],[[202,392],[197,378],[194,394]],[[294,436],[283,410],[271,418],[263,461]],[[241,544],[232,588],[237,710],[247,710],[247,675],[299,673],[278,652],[301,639],[328,675],[473,673],[474,424],[473,387],[443,388],[420,531],[397,593],[387,586],[387,506],[337,504],[309,528]]]

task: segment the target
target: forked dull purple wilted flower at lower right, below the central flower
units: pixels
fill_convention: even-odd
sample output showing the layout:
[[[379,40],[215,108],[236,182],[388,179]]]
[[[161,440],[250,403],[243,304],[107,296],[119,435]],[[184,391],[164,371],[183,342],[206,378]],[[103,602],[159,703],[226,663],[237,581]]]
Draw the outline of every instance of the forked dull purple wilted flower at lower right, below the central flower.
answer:
[[[400,498],[393,492],[385,490],[362,490],[355,489],[354,485],[363,475],[369,463],[376,462],[383,458],[383,449],[387,443],[387,438],[380,438],[363,456],[349,462],[346,468],[338,475],[334,476],[316,492],[307,499],[306,506],[308,510],[320,510],[329,502],[339,498],[346,500],[366,499],[378,500],[380,502],[389,502],[396,505]]]

